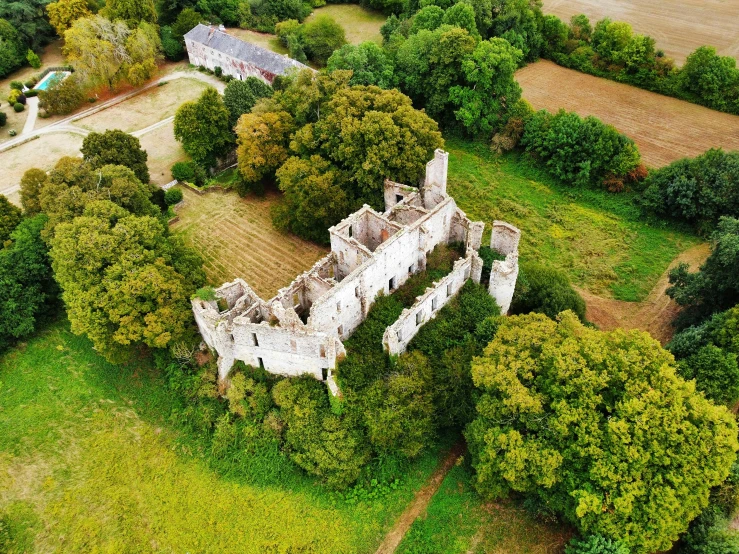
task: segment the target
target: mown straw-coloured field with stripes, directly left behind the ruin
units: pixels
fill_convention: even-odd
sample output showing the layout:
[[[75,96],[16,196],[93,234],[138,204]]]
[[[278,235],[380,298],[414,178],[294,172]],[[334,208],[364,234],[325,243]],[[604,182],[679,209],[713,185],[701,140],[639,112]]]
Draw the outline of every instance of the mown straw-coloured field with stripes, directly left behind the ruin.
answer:
[[[180,219],[172,231],[200,252],[213,285],[241,277],[268,299],[328,251],[272,227],[274,194],[242,199],[235,192],[200,196],[182,189],[185,205],[177,210]]]

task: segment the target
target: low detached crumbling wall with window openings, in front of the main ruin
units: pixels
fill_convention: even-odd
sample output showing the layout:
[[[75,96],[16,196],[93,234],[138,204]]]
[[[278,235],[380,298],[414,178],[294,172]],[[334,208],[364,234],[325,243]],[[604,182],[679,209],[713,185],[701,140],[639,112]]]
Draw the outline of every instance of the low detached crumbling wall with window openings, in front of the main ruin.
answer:
[[[421,326],[436,317],[464,286],[467,279],[480,282],[482,260],[474,250],[469,250],[465,258],[454,262],[452,271],[419,296],[413,306],[406,308],[400,317],[385,329],[382,345],[390,355],[405,352],[408,343],[416,336]]]

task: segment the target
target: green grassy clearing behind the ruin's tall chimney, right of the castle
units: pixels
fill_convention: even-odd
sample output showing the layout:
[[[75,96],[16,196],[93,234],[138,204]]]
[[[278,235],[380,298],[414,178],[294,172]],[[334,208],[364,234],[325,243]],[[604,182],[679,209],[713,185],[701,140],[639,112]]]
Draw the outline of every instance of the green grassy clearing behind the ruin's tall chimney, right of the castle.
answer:
[[[473,220],[508,221],[522,231],[522,260],[564,270],[573,284],[641,301],[670,262],[701,241],[640,217],[633,195],[568,188],[520,155],[496,158],[482,143],[447,141],[448,191]]]

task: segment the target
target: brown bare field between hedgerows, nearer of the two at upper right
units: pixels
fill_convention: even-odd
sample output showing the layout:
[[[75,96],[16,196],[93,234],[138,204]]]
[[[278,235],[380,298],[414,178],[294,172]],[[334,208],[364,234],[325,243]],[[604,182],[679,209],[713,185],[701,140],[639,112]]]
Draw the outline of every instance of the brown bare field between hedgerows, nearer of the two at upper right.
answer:
[[[516,73],[539,109],[594,115],[634,139],[648,166],[661,167],[709,148],[739,150],[739,116],[593,77],[541,60]]]

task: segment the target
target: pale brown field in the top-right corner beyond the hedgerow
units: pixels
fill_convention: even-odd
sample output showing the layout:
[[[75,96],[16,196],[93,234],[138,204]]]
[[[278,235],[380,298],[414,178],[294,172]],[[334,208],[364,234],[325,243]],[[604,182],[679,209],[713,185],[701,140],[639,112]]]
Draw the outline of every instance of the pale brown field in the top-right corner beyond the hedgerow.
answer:
[[[739,58],[739,2],[736,0],[544,0],[544,12],[565,21],[584,13],[595,24],[610,17],[649,35],[677,64],[699,46]]]

